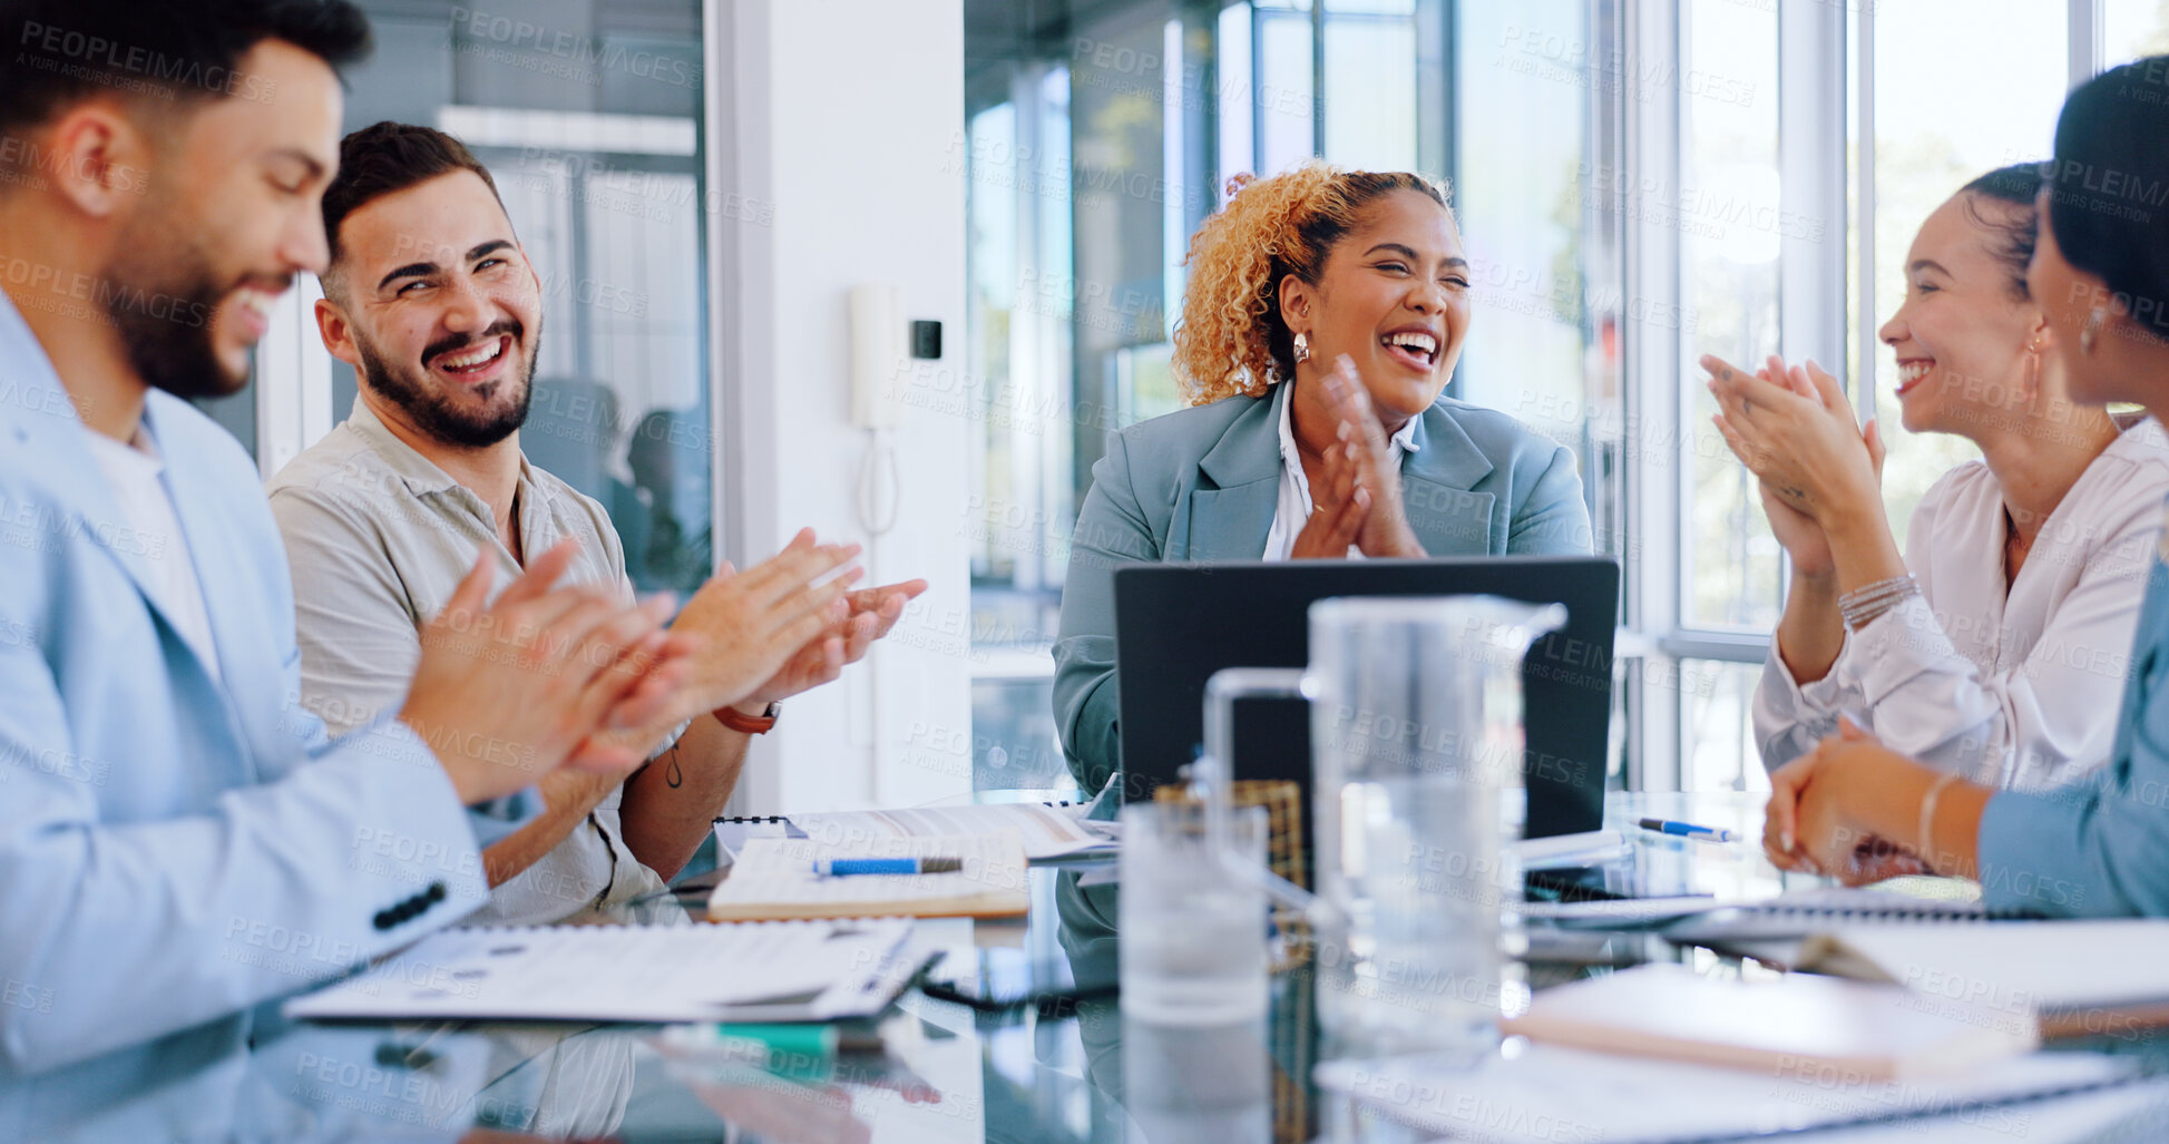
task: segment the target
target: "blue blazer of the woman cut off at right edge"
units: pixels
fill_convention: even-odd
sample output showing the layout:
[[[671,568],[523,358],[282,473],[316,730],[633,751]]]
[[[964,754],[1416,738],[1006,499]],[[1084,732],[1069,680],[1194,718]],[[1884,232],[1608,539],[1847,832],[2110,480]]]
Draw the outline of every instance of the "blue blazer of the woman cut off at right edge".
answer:
[[[1980,814],[1980,894],[2052,916],[2169,916],[2169,569],[2147,575],[2117,745],[2091,784],[1998,790]]]

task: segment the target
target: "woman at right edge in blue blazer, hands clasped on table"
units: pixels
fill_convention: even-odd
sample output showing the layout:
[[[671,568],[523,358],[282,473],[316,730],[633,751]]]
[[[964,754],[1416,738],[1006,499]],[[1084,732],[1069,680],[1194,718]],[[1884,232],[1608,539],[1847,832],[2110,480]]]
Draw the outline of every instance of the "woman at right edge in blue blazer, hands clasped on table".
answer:
[[[2063,106],[2026,274],[2074,402],[2169,408],[2169,56]],[[1987,556],[1987,554],[1985,554]],[[2169,567],[2149,569],[2108,764],[2084,788],[1993,790],[1846,725],[1772,775],[1763,849],[1865,881],[1904,855],[1989,905],[2169,914]]]

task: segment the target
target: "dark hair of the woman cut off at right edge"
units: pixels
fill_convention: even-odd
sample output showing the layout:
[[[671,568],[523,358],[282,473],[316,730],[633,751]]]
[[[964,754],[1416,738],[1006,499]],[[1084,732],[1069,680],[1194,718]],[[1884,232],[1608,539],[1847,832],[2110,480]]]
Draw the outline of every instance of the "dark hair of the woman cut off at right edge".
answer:
[[[2071,91],[2045,180],[2063,256],[2106,282],[2139,328],[2169,339],[2169,56]]]

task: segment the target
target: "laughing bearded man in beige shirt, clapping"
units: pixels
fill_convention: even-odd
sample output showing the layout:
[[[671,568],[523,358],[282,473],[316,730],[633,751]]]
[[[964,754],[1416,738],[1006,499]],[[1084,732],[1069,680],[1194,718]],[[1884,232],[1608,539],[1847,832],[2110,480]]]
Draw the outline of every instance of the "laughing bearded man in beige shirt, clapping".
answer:
[[[323,221],[317,328],[360,393],[271,480],[271,510],[293,564],[301,701],[336,734],[399,701],[416,617],[436,614],[477,547],[518,569],[573,538],[573,582],[633,588],[603,506],[521,454],[542,289],[488,169],[445,132],[377,124],[341,143]],[[662,745],[649,766],[623,784],[553,775],[479,808],[492,892],[471,920],[549,923],[659,890],[711,829],[777,703],[835,679],[926,588],[846,593],[855,556],[800,532],[703,584],[672,625],[705,636],[696,682],[640,732]],[[521,801],[534,797],[540,814]]]

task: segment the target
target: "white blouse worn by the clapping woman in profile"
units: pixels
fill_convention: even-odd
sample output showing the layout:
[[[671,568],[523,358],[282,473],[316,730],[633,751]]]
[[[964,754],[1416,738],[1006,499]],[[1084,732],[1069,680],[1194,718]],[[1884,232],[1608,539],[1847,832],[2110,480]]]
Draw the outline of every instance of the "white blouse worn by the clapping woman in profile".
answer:
[[[2067,784],[2106,762],[2165,488],[2158,465],[2134,475],[2149,480],[2091,482],[2084,495],[2093,504],[2061,514],[2076,527],[2074,541],[2043,538],[2052,543],[2035,551],[2032,560],[2080,567],[2067,593],[2048,597],[2048,614],[2004,614],[2004,640],[2015,630],[2039,630],[2024,660],[1995,671],[1976,666],[1952,645],[1930,608],[1935,597],[1915,597],[1852,634],[1846,666],[1870,708],[1870,729],[1887,747],[2019,790]],[[1913,538],[1924,534],[1915,530]]]

